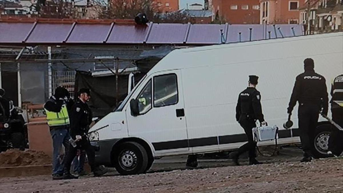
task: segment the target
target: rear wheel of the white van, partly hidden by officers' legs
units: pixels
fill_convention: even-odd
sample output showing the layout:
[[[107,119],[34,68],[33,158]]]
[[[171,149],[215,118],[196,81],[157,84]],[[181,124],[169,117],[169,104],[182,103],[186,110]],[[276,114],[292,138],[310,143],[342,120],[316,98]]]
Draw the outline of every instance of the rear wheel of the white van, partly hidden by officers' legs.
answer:
[[[327,151],[329,147],[330,133],[330,124],[323,124],[317,126],[314,133],[314,138],[311,140],[311,154],[314,158],[328,157]]]

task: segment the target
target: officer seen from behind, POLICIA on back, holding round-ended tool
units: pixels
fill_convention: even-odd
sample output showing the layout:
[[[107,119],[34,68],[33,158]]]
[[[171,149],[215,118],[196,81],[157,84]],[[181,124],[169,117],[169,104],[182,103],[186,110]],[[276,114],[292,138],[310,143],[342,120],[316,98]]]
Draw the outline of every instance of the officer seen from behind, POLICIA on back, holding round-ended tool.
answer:
[[[314,61],[311,58],[304,60],[305,72],[296,77],[291,100],[287,113],[291,114],[296,102],[299,103],[298,125],[300,140],[304,151],[301,162],[309,162],[311,158],[311,142],[313,130],[318,123],[319,112],[328,114],[328,91],[325,78],[314,70]]]

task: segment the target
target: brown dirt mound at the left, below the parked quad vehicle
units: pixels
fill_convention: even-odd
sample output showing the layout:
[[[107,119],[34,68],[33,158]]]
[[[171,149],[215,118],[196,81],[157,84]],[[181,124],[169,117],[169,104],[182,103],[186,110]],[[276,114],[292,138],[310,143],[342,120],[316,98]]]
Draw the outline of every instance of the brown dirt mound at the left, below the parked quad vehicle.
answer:
[[[51,157],[43,151],[9,149],[0,153],[0,167],[37,166],[51,164]]]

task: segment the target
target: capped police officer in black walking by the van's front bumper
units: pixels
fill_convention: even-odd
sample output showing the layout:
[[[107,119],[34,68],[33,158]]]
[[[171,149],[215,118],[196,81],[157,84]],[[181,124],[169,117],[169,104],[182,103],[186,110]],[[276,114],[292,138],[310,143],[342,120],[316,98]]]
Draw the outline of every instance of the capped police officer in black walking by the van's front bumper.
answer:
[[[76,140],[76,147],[70,146],[66,163],[64,163],[64,179],[76,179],[78,177],[70,174],[71,162],[77,154],[77,150],[85,150],[88,157],[88,163],[91,166],[91,170],[94,176],[101,176],[107,171],[101,169],[95,164],[95,150],[91,146],[90,141],[85,135],[88,130],[88,126],[92,122],[91,109],[88,107],[87,103],[90,98],[90,90],[86,88],[80,89],[78,92],[79,98],[73,105],[70,115],[70,136],[72,139]]]

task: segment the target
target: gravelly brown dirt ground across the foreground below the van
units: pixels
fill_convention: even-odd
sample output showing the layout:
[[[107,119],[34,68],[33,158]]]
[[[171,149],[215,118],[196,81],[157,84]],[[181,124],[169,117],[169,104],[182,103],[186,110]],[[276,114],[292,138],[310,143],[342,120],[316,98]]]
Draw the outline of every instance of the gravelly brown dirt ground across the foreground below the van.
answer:
[[[0,178],[0,192],[343,192],[343,159],[300,163],[301,151],[285,148],[264,164],[231,166],[227,159],[200,159],[200,169],[185,169],[186,157],[156,160],[146,174],[52,181],[50,176]]]

